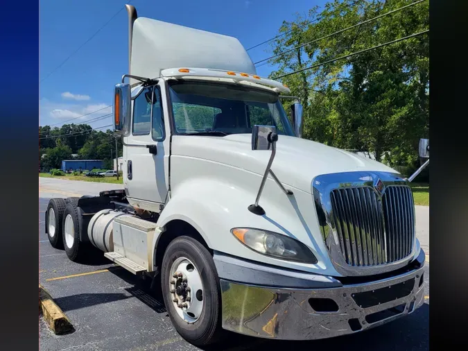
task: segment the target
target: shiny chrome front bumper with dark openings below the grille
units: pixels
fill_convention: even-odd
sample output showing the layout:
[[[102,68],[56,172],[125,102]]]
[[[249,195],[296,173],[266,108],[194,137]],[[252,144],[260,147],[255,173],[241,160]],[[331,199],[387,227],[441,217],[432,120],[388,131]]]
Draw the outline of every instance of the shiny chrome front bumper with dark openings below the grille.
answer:
[[[424,304],[421,252],[418,258],[423,257],[422,262],[409,272],[339,287],[259,286],[227,280],[221,273],[223,328],[270,339],[309,340],[352,334],[388,323]]]

